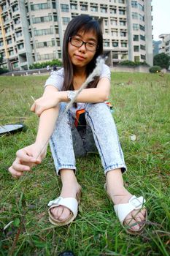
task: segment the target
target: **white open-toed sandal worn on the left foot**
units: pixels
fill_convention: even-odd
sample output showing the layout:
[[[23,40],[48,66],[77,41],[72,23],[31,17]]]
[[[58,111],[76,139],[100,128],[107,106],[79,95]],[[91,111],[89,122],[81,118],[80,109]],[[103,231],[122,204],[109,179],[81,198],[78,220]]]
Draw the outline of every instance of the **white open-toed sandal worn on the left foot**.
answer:
[[[81,196],[81,190],[80,192],[77,193],[77,197],[58,197],[55,198],[55,200],[51,200],[48,203],[48,214],[49,214],[49,220],[50,222],[55,225],[55,226],[63,226],[63,225],[68,225],[71,223],[76,217],[77,217],[77,212],[78,212],[78,205],[80,203],[80,196]],[[58,206],[64,206],[70,210],[70,216],[67,219],[64,219],[63,221],[60,221],[58,219],[55,219],[53,217],[53,214],[51,214],[51,208],[58,207]]]

